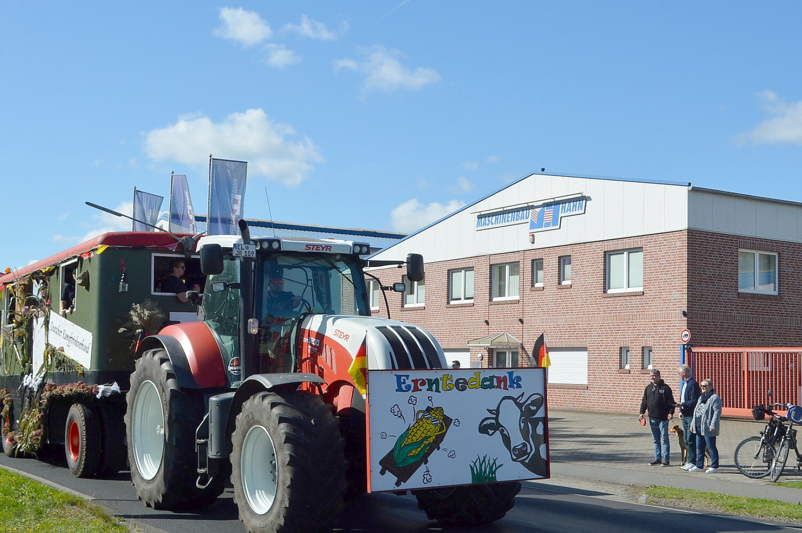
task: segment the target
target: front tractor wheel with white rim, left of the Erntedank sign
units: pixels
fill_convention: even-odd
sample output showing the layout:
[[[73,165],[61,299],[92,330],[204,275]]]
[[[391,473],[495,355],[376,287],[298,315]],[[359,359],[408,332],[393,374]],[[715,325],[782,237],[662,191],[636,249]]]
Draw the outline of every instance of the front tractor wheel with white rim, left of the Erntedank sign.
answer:
[[[255,394],[237,415],[234,501],[249,533],[330,531],[347,462],[331,406],[302,391]]]

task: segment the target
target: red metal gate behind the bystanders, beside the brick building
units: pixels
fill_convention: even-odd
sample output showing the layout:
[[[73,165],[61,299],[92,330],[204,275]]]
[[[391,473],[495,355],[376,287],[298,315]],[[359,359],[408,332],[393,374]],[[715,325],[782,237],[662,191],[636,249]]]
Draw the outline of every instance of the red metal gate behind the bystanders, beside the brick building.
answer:
[[[693,348],[694,378],[713,380],[722,414],[751,417],[759,403],[800,405],[802,348]],[[768,390],[772,398],[768,398]]]

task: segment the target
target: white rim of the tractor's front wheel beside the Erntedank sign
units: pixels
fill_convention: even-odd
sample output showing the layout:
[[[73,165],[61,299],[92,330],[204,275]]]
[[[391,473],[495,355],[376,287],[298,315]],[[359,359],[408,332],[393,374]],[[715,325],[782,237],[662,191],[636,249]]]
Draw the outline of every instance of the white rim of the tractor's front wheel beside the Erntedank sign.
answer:
[[[276,448],[264,426],[253,426],[245,435],[240,476],[248,505],[264,515],[273,507],[278,482]]]

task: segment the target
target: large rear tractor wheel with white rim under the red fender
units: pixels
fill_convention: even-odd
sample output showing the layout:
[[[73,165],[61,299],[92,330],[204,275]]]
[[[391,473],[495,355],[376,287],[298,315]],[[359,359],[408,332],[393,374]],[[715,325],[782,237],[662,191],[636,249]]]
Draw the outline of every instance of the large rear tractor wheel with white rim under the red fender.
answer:
[[[195,430],[204,416],[200,394],[182,390],[164,349],[136,361],[125,413],[131,483],[146,507],[180,511],[213,503],[225,476],[196,487]]]

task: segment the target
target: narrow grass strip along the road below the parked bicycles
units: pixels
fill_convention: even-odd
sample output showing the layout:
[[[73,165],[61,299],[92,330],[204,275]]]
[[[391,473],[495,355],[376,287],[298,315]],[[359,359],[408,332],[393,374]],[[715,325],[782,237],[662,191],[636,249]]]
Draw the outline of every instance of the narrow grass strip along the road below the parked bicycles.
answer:
[[[802,520],[802,504],[774,499],[746,498],[718,492],[693,491],[672,487],[645,487],[646,503],[719,511],[730,515],[748,515],[769,519]]]

